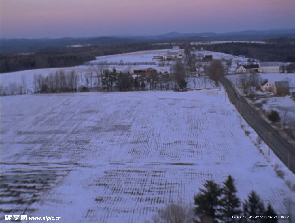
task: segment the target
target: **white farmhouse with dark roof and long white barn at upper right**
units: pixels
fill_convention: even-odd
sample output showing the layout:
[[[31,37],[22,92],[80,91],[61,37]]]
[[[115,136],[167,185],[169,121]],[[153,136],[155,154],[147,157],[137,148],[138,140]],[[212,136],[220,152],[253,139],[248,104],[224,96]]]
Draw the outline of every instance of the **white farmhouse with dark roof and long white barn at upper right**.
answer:
[[[279,73],[287,72],[281,62],[260,62],[258,64],[240,65],[236,68],[237,73]]]

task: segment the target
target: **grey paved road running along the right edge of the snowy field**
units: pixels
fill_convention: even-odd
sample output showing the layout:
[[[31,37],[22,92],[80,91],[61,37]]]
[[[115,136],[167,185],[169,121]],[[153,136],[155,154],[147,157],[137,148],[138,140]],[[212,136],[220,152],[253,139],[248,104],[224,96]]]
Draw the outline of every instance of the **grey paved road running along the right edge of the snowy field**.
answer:
[[[222,77],[220,80],[227,90],[228,97],[243,118],[251,125],[257,134],[265,141],[280,160],[295,174],[295,148],[283,138],[247,101],[239,95],[232,83]]]

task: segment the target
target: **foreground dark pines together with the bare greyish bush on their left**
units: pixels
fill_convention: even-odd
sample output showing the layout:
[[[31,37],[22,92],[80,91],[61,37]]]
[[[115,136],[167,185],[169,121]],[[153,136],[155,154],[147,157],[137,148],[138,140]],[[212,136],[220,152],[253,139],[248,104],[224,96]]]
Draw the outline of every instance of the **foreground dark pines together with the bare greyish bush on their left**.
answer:
[[[260,196],[251,191],[248,198],[241,202],[231,175],[222,186],[213,180],[207,180],[204,189],[194,196],[194,208],[181,204],[169,204],[160,209],[153,217],[154,223],[276,223],[277,219],[249,219],[240,216],[276,216],[271,204],[265,207]],[[291,212],[287,204],[287,212]],[[232,217],[234,216],[234,217]]]

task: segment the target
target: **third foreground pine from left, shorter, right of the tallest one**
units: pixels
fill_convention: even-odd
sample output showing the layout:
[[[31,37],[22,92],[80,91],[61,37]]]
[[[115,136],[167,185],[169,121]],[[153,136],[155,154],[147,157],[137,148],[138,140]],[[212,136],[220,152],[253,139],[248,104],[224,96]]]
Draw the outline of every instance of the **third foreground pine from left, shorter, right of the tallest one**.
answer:
[[[260,216],[264,214],[264,205],[260,200],[258,194],[255,191],[251,191],[248,195],[248,200],[245,200],[243,204],[244,215],[245,216]],[[248,219],[247,222],[250,223],[262,223],[262,219]]]

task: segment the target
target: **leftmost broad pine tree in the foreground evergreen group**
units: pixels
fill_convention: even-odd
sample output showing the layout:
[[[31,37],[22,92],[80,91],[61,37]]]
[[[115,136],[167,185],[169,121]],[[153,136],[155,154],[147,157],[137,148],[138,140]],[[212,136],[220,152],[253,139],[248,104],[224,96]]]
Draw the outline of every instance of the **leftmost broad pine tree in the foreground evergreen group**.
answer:
[[[217,208],[220,204],[221,189],[212,180],[207,180],[204,184],[205,189],[200,188],[200,193],[194,196],[194,211],[197,216],[210,217],[213,222],[217,222]]]

